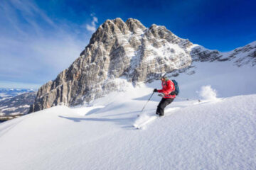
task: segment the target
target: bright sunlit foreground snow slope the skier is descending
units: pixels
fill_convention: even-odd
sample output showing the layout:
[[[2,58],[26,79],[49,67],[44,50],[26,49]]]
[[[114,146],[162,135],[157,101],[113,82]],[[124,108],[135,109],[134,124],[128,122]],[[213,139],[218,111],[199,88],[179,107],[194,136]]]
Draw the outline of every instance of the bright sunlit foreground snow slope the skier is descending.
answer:
[[[156,84],[1,123],[1,169],[256,169],[256,94],[175,101],[137,130],[161,99],[137,118]]]

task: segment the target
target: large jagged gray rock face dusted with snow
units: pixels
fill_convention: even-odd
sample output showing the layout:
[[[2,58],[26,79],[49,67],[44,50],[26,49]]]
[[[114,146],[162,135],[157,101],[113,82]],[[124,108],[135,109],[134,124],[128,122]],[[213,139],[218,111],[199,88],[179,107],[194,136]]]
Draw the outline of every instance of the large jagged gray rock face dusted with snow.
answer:
[[[178,38],[164,26],[145,28],[138,20],[107,20],[93,33],[89,45],[54,81],[41,86],[30,112],[60,103],[75,106],[122,91],[127,82],[137,86],[161,72],[190,67],[192,60],[209,60],[221,55],[202,50]],[[192,56],[192,57],[191,57]]]

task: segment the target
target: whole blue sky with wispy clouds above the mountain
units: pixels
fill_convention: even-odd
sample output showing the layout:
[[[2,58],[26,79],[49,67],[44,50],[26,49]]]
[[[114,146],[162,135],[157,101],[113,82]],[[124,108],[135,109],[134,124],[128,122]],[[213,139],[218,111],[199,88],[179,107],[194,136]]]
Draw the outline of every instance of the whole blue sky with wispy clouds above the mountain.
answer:
[[[256,40],[255,1],[2,0],[0,87],[38,88],[79,57],[107,19],[137,18],[227,52]]]

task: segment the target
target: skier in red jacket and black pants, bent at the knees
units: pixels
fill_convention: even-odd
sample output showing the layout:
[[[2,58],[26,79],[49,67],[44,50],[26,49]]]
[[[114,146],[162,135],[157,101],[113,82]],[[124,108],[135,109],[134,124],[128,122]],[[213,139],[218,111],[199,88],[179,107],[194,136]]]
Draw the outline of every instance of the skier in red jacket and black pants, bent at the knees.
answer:
[[[163,98],[161,99],[159,105],[156,109],[156,115],[163,116],[164,115],[164,108],[169,105],[172,101],[174,101],[174,98],[176,97],[175,86],[174,82],[169,80],[166,77],[166,74],[163,74],[161,76],[161,85],[163,89],[158,90],[154,89],[154,92],[162,93],[164,94]]]

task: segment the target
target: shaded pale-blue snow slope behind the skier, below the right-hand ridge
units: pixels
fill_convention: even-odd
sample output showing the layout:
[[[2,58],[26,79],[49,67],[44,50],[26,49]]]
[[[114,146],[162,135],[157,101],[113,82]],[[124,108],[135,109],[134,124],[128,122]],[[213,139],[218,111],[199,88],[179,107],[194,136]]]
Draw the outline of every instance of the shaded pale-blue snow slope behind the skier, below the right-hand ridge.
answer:
[[[249,64],[238,67],[233,61],[193,62],[192,66],[188,72],[172,78],[178,81],[180,96],[198,98],[196,91],[207,85],[216,89],[219,97],[256,94],[256,67]]]

